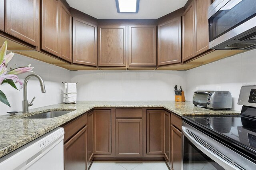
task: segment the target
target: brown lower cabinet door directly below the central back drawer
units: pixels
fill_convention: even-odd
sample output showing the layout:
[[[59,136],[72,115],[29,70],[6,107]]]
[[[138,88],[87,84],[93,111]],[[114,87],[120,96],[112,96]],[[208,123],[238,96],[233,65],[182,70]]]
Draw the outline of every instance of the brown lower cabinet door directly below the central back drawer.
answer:
[[[116,157],[142,157],[142,119],[116,119]]]

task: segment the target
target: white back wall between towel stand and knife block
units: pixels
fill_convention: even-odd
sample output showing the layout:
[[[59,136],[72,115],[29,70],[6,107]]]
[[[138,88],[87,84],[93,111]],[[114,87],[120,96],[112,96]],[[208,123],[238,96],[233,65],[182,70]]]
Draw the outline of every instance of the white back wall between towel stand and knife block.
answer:
[[[174,100],[174,85],[186,91],[186,71],[72,71],[78,100]]]

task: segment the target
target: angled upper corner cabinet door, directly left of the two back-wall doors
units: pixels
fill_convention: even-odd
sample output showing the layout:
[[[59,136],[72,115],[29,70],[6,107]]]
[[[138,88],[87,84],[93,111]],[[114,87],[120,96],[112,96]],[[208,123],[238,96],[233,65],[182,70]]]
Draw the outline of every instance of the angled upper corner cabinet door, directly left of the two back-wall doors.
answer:
[[[97,65],[97,26],[73,17],[73,63]]]

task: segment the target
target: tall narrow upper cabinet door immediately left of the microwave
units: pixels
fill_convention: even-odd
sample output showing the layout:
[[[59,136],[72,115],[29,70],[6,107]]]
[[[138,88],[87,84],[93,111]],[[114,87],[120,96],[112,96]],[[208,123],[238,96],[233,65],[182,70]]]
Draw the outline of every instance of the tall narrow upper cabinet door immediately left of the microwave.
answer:
[[[198,55],[209,49],[208,7],[211,0],[196,0],[194,51]]]

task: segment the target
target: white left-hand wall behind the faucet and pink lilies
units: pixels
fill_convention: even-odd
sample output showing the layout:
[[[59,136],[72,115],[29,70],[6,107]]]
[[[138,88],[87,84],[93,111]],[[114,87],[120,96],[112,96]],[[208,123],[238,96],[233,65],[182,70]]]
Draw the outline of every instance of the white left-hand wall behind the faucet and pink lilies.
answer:
[[[62,89],[62,82],[70,81],[70,71],[18,54],[14,55],[8,66],[14,66],[15,64],[18,64],[16,67],[31,64],[34,67],[35,74],[40,75],[45,83],[46,93],[41,93],[40,84],[36,78],[28,81],[28,101],[30,102],[36,96],[33,106],[29,109],[62,102],[62,95],[59,95],[59,91],[60,88]],[[24,81],[24,78],[29,74],[31,73],[24,73],[18,75],[18,77]],[[20,87],[18,83],[16,85]],[[18,91],[5,83],[0,86],[0,90],[4,92],[12,107],[10,108],[0,102],[0,115],[4,115],[8,111],[22,111],[23,89]]]

